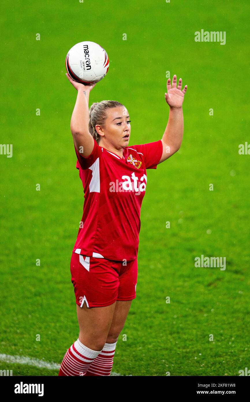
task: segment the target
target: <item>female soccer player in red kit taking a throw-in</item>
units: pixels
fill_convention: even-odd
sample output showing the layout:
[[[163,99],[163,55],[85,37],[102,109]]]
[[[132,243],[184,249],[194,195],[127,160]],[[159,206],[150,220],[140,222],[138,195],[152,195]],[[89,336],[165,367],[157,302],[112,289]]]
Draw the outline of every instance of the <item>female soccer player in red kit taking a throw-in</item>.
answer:
[[[187,85],[167,80],[169,120],[162,139],[128,146],[130,117],[114,100],[93,103],[87,86],[67,78],[77,90],[71,117],[76,168],[83,183],[84,205],[71,257],[79,338],[65,353],[59,375],[110,375],[118,336],[136,297],[140,208],[146,169],[181,146],[182,103]]]

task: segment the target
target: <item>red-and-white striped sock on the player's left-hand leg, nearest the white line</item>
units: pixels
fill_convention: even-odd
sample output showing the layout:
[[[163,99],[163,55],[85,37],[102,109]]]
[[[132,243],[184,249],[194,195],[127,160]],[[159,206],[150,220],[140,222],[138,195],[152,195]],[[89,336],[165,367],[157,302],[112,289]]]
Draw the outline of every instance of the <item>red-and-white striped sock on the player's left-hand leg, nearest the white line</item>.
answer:
[[[65,353],[58,375],[84,375],[100,352],[89,349],[78,338]]]

